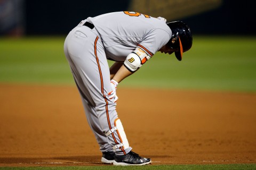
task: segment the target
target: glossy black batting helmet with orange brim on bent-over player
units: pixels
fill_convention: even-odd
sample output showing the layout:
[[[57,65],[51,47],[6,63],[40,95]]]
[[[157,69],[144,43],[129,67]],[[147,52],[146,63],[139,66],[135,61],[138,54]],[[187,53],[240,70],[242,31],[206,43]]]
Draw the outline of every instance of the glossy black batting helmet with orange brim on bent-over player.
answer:
[[[192,46],[192,34],[187,24],[182,21],[169,22],[167,25],[172,30],[172,38],[167,45],[175,49],[176,58],[181,61],[183,52],[189,50]],[[175,42],[172,43],[172,39],[175,38]]]

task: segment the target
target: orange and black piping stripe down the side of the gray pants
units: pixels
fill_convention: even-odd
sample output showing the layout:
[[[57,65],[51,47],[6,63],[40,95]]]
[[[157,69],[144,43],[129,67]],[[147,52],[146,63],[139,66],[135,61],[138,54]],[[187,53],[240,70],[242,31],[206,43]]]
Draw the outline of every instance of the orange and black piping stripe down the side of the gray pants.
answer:
[[[101,93],[102,93],[103,98],[105,99],[105,103],[106,103],[105,108],[106,108],[106,114],[107,114],[107,119],[108,119],[108,126],[109,126],[109,130],[110,130],[110,129],[112,129],[112,127],[111,127],[111,124],[110,124],[109,113],[108,113],[108,100],[107,100],[106,96],[104,95],[102,72],[101,72],[101,68],[100,68],[99,58],[98,58],[98,55],[97,55],[97,42],[98,42],[98,39],[99,39],[99,37],[97,36],[97,38],[94,41],[94,54],[95,54],[95,57],[96,57],[96,61],[97,61],[98,69],[99,69],[99,73],[100,73]],[[117,142],[117,140],[115,138],[114,133],[112,133],[112,137],[113,137],[115,143],[118,144],[118,142]],[[123,151],[124,155],[126,155],[125,150],[123,148],[121,150]]]

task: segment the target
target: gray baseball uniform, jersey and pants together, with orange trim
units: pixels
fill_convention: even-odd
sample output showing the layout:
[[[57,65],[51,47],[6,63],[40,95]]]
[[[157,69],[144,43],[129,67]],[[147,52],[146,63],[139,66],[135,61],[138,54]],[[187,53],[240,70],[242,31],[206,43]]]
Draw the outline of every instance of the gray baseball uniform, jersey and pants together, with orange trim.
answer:
[[[108,96],[111,86],[107,60],[124,62],[135,48],[151,57],[171,36],[171,29],[163,18],[127,11],[89,17],[69,32],[65,55],[81,94],[87,121],[102,152],[115,147],[116,155],[125,155],[132,149],[129,144],[121,145],[125,133],[115,129],[118,116],[116,103]]]

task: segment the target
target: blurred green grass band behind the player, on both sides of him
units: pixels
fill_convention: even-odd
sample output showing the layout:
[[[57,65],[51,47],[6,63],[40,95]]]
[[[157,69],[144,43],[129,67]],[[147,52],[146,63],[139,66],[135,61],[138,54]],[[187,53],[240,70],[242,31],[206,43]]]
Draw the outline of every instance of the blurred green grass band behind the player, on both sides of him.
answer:
[[[0,82],[74,84],[64,40],[0,38]],[[256,37],[194,36],[181,62],[158,52],[120,86],[256,92],[255,47]]]

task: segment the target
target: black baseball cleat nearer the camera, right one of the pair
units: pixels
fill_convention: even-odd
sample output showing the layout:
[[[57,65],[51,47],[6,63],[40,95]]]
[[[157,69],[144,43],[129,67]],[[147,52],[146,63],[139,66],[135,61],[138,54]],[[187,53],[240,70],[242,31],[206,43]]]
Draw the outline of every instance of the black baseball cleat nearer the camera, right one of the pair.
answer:
[[[142,158],[135,152],[130,151],[126,155],[118,156],[115,155],[113,165],[147,165],[150,164],[151,160],[149,158]]]

